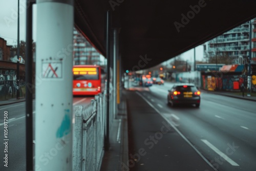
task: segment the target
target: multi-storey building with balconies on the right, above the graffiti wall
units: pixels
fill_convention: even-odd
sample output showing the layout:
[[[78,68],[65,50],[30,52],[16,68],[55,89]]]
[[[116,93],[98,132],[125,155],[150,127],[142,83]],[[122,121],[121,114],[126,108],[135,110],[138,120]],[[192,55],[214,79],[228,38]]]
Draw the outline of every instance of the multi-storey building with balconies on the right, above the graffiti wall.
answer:
[[[247,57],[249,56],[249,42],[252,41],[251,56],[253,61],[256,59],[256,29],[254,29],[256,28],[256,18],[251,20],[251,26],[251,40],[249,37],[250,22],[246,22],[206,42],[204,57],[225,57],[228,59],[226,64],[243,65],[246,63]]]

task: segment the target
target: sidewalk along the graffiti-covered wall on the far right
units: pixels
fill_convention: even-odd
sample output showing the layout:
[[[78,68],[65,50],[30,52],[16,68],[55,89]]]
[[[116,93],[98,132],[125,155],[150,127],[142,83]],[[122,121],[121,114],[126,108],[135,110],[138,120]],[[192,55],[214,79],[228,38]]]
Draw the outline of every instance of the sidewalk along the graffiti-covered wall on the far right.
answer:
[[[233,97],[233,98],[256,101],[256,93],[255,92],[250,93],[251,96],[247,96],[247,92],[244,92],[244,97],[243,97],[242,92],[206,91],[203,89],[200,89],[200,91],[204,92],[204,93],[218,94],[218,95],[223,95],[223,96],[228,96],[228,97]]]

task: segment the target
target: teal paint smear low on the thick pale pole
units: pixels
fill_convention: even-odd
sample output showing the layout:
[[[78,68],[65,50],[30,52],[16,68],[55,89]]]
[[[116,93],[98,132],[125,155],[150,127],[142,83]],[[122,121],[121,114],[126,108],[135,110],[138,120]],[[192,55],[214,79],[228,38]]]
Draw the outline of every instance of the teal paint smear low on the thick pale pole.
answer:
[[[68,135],[71,130],[71,121],[70,121],[70,110],[66,109],[65,110],[65,116],[63,117],[63,120],[61,122],[61,125],[59,126],[57,132],[56,132],[56,137],[57,138],[62,138],[65,135]]]

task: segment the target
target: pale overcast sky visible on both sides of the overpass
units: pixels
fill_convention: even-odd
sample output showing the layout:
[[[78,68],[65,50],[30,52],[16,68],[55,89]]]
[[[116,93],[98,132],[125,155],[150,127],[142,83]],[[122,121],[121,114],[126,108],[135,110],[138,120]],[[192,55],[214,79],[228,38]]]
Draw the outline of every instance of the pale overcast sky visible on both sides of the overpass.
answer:
[[[17,44],[17,0],[0,0],[0,37],[7,40],[8,45]],[[36,40],[36,6],[33,8],[33,39]],[[26,1],[19,1],[19,40],[26,39]],[[194,49],[181,55],[186,60],[194,60]],[[203,59],[203,47],[196,48],[196,59]]]

